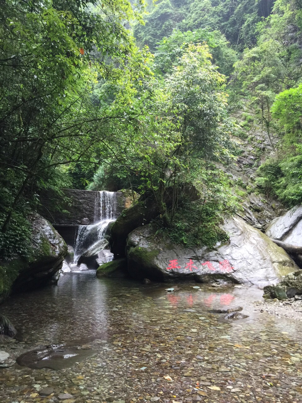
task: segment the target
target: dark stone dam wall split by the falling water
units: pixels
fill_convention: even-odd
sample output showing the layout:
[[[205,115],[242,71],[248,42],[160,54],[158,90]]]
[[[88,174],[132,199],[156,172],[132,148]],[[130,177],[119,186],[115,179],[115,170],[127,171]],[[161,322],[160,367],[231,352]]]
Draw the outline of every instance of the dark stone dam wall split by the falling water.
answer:
[[[39,213],[53,225],[81,225],[83,218],[94,223],[95,203],[99,192],[90,190],[62,189],[62,195],[48,191],[40,195]],[[116,192],[117,215],[131,203],[129,191]]]

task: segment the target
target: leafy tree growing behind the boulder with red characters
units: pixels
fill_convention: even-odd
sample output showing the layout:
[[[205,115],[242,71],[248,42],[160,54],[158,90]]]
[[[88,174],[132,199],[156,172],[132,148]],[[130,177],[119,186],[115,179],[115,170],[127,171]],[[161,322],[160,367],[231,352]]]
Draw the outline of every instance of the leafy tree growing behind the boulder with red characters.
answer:
[[[232,159],[229,135],[234,127],[226,110],[224,78],[210,59],[207,45],[189,45],[178,59],[172,74],[165,77],[163,93],[167,94],[167,98],[164,114],[175,126],[177,142],[173,152],[162,160],[157,175],[153,174],[153,183],[149,175],[150,187],[158,184],[157,199],[165,227],[173,228],[181,194],[178,189],[184,183],[194,183],[200,192],[209,191],[205,177],[211,163]],[[216,175],[219,177],[219,172]],[[171,208],[164,202],[168,189],[172,199]],[[220,203],[215,199],[218,216],[219,211],[227,212],[232,205],[226,199]],[[205,200],[210,202],[213,197],[205,196]],[[193,222],[191,226],[195,228],[196,222]],[[213,220],[213,226],[215,222],[217,220]],[[203,224],[206,225],[206,222]],[[197,237],[197,243],[200,240]]]

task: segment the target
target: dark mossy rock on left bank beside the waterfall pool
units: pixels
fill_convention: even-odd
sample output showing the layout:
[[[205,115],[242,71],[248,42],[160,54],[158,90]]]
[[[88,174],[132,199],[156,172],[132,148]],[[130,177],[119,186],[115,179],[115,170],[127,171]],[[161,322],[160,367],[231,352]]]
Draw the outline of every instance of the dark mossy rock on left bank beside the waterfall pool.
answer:
[[[37,213],[32,224],[31,253],[27,260],[0,261],[0,300],[12,291],[28,291],[57,281],[67,247],[54,227]]]

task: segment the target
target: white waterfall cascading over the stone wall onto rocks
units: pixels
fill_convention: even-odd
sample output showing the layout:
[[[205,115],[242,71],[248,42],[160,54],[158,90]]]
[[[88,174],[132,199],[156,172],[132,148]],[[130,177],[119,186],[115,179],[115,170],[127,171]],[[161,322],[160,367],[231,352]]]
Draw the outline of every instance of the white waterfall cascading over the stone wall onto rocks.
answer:
[[[104,239],[108,224],[116,220],[116,193],[102,190],[95,196],[94,223],[79,225],[74,248],[74,264],[87,249]]]

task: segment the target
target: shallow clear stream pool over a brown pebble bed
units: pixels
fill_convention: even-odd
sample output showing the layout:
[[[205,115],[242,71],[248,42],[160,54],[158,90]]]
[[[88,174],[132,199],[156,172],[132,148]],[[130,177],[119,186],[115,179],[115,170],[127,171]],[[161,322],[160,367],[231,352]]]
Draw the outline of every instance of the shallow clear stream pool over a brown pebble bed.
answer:
[[[1,368],[0,402],[302,402],[302,323],[260,312],[256,287],[194,286],[88,271],[10,297],[1,313],[21,330],[0,338],[10,357],[57,344],[91,355],[57,370]],[[248,318],[210,312],[238,305]]]

